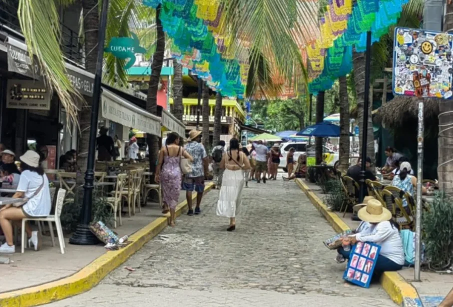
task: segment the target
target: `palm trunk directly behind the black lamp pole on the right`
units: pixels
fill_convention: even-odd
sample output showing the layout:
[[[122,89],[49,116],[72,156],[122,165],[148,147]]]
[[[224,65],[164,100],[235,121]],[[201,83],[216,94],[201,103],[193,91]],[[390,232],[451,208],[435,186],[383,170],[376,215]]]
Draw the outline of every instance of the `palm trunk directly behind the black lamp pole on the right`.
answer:
[[[372,164],[375,162],[374,154],[374,134],[373,134],[373,120],[372,120],[372,105],[368,108],[368,131],[367,131],[367,144],[362,144],[363,135],[363,102],[365,94],[365,54],[353,52],[352,64],[354,65],[354,82],[355,91],[357,94],[357,114],[358,114],[358,127],[359,127],[359,145],[360,151],[362,146],[366,146],[366,156],[371,158]]]

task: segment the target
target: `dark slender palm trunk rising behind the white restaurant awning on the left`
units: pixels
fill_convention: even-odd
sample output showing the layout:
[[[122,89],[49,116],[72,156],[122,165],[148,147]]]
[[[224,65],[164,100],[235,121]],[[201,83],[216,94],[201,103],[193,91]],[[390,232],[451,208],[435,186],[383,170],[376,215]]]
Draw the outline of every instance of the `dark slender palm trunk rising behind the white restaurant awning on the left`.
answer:
[[[159,81],[161,77],[162,63],[164,62],[165,52],[165,34],[162,29],[162,22],[159,18],[162,6],[156,8],[156,31],[157,42],[156,51],[153,55],[153,63],[151,65],[151,76],[148,88],[148,97],[146,98],[146,111],[151,114],[157,115],[157,91],[159,88]],[[156,161],[159,153],[159,139],[155,135],[147,134],[147,143],[150,155],[150,171],[156,171]],[[154,177],[152,180],[154,180]]]

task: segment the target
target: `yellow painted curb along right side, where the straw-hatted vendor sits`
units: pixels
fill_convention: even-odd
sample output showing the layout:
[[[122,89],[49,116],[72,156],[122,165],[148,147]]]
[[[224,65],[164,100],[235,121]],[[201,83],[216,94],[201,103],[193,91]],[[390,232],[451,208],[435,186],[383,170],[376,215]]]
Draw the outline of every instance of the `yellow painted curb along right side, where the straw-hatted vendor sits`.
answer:
[[[297,178],[295,181],[336,232],[343,232],[350,229],[335,212],[331,212],[327,209],[327,206],[314,192],[310,191],[310,188],[302,179]],[[380,284],[390,298],[399,305],[404,304],[405,302],[418,300],[418,294],[415,288],[405,281],[398,272],[384,272],[380,278]]]

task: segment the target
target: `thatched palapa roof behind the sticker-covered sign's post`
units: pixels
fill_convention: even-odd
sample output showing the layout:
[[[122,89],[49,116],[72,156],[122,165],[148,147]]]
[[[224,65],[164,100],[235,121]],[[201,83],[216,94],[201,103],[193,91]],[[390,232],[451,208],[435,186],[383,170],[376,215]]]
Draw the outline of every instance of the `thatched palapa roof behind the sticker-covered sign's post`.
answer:
[[[437,121],[439,115],[440,99],[429,98],[423,101],[424,122]],[[407,121],[416,121],[418,117],[419,98],[396,96],[383,104],[373,116],[373,122],[381,123],[382,126],[391,129],[401,128]]]

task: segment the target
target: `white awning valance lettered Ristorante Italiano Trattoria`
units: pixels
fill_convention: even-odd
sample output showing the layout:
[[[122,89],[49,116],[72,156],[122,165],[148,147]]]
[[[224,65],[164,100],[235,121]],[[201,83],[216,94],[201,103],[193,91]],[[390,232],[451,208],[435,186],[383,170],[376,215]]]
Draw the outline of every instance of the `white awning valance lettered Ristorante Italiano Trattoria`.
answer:
[[[103,88],[101,115],[105,119],[161,136],[161,118]]]

